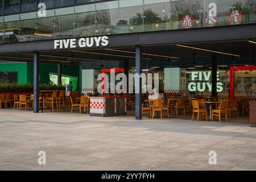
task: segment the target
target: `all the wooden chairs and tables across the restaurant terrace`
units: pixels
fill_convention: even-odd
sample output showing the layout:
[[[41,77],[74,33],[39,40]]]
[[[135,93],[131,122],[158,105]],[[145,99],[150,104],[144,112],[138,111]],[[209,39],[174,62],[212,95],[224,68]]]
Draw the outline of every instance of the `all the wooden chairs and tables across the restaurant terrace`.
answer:
[[[42,112],[90,113],[90,97],[92,94],[68,92],[64,90],[40,90],[39,110]],[[135,110],[134,94],[120,95],[126,98],[127,110]],[[104,97],[110,97],[106,95]],[[119,97],[119,96],[118,96]],[[230,118],[246,118],[250,112],[250,99],[237,97],[218,99],[217,97],[181,97],[164,96],[154,98],[143,94],[142,115],[148,118],[191,117],[192,122],[218,121],[228,122]],[[16,110],[33,110],[34,94],[1,94],[0,108]]]

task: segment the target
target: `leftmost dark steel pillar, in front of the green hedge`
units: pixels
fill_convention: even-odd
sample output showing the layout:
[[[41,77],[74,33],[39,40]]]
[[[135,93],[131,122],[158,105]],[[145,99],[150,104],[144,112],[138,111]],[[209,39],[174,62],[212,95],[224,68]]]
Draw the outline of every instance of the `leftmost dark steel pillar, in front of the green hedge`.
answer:
[[[39,113],[39,53],[34,52],[34,113]]]

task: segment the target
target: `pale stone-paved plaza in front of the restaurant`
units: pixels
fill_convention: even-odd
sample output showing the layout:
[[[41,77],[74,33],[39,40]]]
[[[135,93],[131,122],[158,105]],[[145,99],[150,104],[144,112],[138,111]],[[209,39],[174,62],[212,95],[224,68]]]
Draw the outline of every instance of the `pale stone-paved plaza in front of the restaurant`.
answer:
[[[133,116],[0,110],[1,170],[256,170],[256,128],[246,121],[136,121]],[[46,165],[38,152],[46,152]],[[217,164],[209,164],[209,152]]]

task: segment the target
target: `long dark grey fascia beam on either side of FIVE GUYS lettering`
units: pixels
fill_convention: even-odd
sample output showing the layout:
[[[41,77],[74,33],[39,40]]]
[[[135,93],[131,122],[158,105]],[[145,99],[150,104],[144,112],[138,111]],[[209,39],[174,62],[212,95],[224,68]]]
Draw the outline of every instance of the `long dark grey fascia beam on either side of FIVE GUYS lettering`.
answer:
[[[256,30],[256,24],[108,35],[109,46],[105,48],[255,39],[253,30]],[[0,53],[54,50],[53,40],[0,44]]]

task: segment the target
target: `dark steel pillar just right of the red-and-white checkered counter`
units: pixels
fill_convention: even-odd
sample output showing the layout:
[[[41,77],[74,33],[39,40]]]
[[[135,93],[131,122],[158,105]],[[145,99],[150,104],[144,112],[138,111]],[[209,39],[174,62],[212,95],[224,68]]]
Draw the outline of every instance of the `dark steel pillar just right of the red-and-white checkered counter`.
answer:
[[[141,75],[142,73],[142,52],[141,46],[135,46],[136,51],[136,73]],[[136,89],[137,88],[137,89]],[[137,91],[137,92],[136,92]],[[135,79],[135,118],[142,119],[142,79]]]

